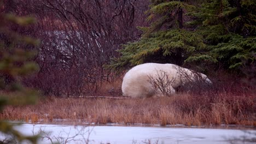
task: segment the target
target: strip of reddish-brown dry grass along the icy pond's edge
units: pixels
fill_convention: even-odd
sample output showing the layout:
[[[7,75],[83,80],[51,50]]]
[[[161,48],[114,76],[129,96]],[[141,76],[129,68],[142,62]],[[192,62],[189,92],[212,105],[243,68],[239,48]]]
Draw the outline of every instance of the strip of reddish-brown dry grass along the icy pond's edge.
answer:
[[[255,112],[255,94],[207,92],[147,99],[46,97],[37,105],[5,107],[0,118],[32,123],[80,119],[96,124],[237,124],[255,127]]]

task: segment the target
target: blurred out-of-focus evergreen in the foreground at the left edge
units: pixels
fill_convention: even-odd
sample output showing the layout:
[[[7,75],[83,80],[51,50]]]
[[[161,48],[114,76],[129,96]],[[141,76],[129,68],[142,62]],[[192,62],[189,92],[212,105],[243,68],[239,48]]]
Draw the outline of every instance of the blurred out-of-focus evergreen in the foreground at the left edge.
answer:
[[[1,4],[0,4],[1,5]],[[37,45],[38,40],[22,36],[9,30],[10,23],[26,26],[32,17],[16,17],[12,14],[0,14],[0,112],[7,105],[34,104],[38,93],[21,85],[20,78],[33,73],[37,65],[30,62],[34,52],[19,49],[21,45]],[[15,130],[14,123],[0,119],[0,132],[7,135],[0,143],[37,143],[38,136],[25,136]]]

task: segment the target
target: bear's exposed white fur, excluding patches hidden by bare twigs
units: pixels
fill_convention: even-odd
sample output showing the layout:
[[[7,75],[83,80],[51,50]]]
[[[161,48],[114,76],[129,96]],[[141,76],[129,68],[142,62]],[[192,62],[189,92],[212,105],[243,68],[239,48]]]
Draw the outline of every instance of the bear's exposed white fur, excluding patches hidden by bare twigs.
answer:
[[[149,81],[149,77],[157,78],[159,76],[159,71],[163,71],[168,75],[168,79],[173,80],[170,87],[170,93],[174,94],[174,88],[177,88],[181,85],[184,85],[186,82],[191,81],[187,80],[188,76],[193,79],[193,71],[179,67],[175,64],[159,64],[159,63],[145,63],[133,67],[124,76],[122,83],[122,92],[126,97],[131,98],[147,98],[147,97],[158,97],[164,96],[163,93],[152,85]],[[182,74],[178,73],[182,71]],[[184,77],[187,75],[186,77]],[[203,80],[211,83],[206,75],[201,74]]]

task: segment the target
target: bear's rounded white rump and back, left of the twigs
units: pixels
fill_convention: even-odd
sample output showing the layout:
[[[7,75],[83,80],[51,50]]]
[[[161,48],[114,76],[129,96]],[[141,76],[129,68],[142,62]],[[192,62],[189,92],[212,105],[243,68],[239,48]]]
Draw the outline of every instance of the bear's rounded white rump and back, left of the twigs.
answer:
[[[173,64],[145,63],[133,67],[127,71],[123,78],[123,94],[133,98],[152,97],[155,94],[155,89],[149,82],[149,77],[160,75],[161,71],[168,75],[177,73]]]

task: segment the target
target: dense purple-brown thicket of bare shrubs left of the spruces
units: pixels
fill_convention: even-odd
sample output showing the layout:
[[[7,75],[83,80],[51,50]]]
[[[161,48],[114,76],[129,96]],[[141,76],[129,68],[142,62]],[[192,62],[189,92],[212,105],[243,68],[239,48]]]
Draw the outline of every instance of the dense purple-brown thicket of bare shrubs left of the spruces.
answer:
[[[42,41],[35,47],[39,73],[24,82],[46,95],[61,97],[96,95],[102,82],[114,79],[103,65],[121,44],[137,40],[137,26],[147,25],[144,11],[149,1],[95,0],[9,0],[0,11],[19,16],[33,15],[38,23],[31,27],[10,26],[22,34]]]

